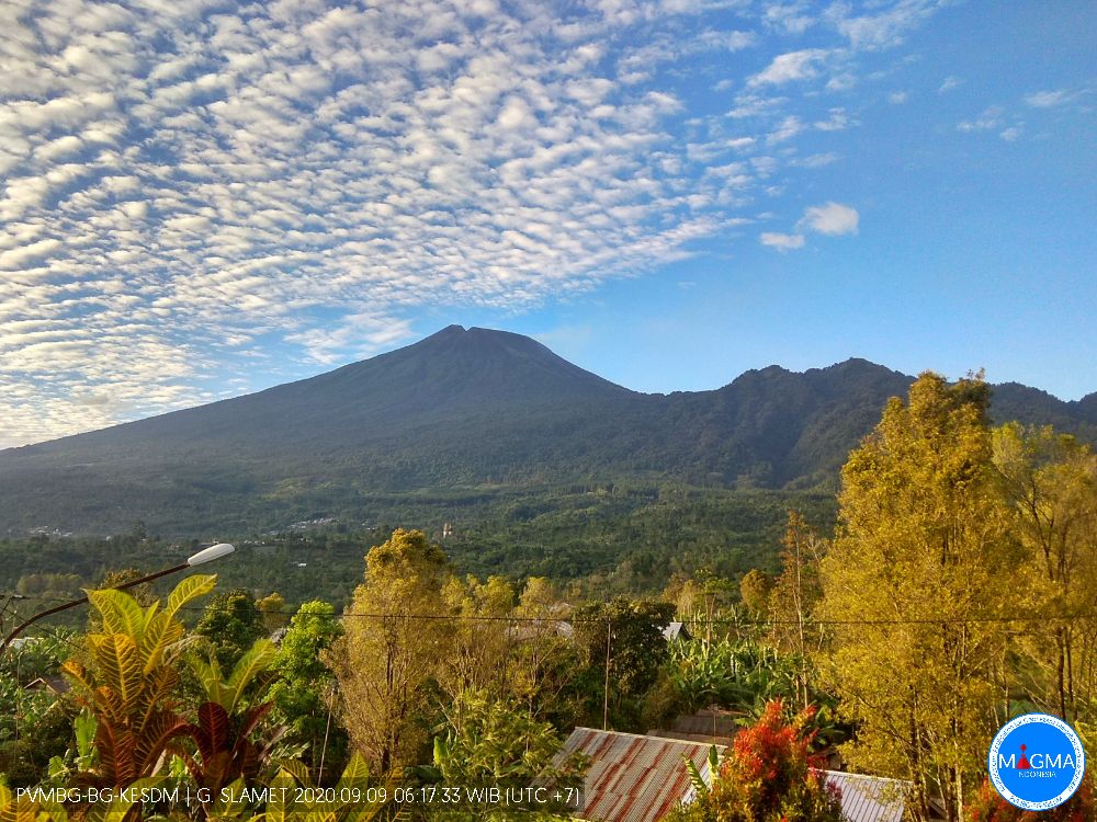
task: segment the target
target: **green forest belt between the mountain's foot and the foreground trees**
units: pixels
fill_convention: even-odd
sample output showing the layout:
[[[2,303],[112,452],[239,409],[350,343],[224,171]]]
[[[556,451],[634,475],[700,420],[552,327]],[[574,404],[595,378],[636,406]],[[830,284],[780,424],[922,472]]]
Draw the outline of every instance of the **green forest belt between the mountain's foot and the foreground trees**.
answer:
[[[681,484],[573,487],[542,492],[393,494],[371,522],[305,521],[271,534],[219,535],[236,553],[218,563],[224,585],[299,604],[346,603],[362,558],[396,527],[445,547],[455,569],[521,583],[548,576],[573,598],[654,594],[700,570],[737,580],[777,570],[787,512],[829,530],[832,495],[726,491]],[[166,540],[144,525],[109,538],[37,535],[0,540],[0,592],[31,602],[79,596],[121,568],[145,572],[182,561],[195,540]],[[169,583],[162,583],[161,590]],[[59,615],[59,623],[80,617]]]

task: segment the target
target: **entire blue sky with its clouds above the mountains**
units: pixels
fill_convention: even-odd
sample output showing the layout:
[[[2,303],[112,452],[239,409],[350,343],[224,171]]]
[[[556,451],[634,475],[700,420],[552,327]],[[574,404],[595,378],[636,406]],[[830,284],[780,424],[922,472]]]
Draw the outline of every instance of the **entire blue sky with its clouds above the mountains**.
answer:
[[[0,446],[450,323],[1097,390],[1092,2],[8,0]]]

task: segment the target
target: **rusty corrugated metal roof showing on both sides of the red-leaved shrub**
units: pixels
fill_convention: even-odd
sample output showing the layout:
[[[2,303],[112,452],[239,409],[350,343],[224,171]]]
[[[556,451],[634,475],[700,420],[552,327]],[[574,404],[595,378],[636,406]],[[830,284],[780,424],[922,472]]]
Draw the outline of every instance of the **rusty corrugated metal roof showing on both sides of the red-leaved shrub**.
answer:
[[[568,752],[590,757],[584,783],[585,806],[576,815],[597,822],[657,822],[679,802],[692,801],[693,786],[682,756],[688,756],[709,784],[710,745],[664,737],[576,728],[564,743]],[[716,746],[723,754],[724,747]],[[848,822],[901,822],[903,794],[909,787],[896,779],[825,770],[826,780],[841,791],[841,812]]]

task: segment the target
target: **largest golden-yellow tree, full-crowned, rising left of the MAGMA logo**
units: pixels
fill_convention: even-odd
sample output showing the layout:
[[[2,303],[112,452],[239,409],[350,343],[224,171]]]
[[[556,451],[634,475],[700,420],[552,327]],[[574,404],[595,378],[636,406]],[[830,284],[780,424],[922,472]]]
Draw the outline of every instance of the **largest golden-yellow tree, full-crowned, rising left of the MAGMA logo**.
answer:
[[[822,615],[834,621],[827,673],[845,747],[869,770],[913,780],[911,812],[943,797],[957,822],[1003,693],[1016,566],[991,463],[988,389],[923,374],[893,398],[842,469],[839,528],[823,560]]]

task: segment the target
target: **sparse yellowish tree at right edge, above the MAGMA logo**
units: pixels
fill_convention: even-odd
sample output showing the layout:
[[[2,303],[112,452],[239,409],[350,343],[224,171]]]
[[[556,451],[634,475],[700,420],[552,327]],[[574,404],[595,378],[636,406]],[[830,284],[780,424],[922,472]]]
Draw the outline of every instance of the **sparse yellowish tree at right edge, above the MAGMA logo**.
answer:
[[[1020,685],[1043,710],[1067,722],[1097,712],[1097,456],[1051,426],[1005,425],[994,464],[1025,549],[1029,614]],[[1068,618],[1063,618],[1068,615]]]

